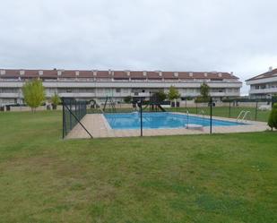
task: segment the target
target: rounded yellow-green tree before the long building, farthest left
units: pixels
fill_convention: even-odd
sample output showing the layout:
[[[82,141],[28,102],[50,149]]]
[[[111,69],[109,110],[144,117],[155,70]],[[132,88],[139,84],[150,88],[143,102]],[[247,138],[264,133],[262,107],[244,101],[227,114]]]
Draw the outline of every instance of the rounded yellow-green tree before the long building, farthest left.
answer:
[[[25,103],[33,112],[45,100],[45,89],[39,79],[25,82],[22,92]]]

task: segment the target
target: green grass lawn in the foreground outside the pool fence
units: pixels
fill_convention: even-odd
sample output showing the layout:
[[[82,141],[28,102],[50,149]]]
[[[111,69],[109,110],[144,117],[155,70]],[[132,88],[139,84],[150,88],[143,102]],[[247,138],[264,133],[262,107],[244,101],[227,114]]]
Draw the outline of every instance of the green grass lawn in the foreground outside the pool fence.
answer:
[[[0,222],[277,219],[277,133],[61,139],[60,112],[0,113]]]

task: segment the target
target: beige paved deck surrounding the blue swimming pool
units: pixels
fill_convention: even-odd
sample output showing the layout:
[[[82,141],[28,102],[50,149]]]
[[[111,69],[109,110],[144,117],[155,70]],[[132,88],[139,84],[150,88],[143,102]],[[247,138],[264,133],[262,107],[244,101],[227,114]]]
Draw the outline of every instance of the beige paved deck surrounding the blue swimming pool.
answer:
[[[184,115],[184,114],[183,114]],[[194,115],[190,115],[194,116]],[[205,116],[208,118],[208,116]],[[212,117],[226,121],[236,122],[236,119],[224,117]],[[91,133],[93,138],[107,137],[132,137],[140,136],[140,130],[114,130],[111,129],[108,121],[102,114],[88,114],[81,120],[82,124]],[[247,133],[247,132],[263,132],[269,129],[264,122],[247,121],[246,125],[233,126],[212,126],[212,133]],[[143,129],[144,136],[153,135],[177,135],[177,134],[207,134],[210,133],[210,126],[203,127],[203,130],[190,130],[186,128],[177,129]],[[67,139],[91,138],[82,128],[81,124],[77,124],[74,129],[67,134]]]

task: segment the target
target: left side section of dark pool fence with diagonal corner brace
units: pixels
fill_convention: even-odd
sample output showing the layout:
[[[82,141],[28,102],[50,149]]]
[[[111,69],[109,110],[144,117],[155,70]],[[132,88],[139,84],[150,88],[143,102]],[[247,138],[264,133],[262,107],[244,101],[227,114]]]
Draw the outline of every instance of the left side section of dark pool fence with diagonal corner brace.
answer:
[[[62,98],[63,103],[63,138],[73,130],[76,124],[81,124],[83,129],[91,133],[81,123],[82,117],[87,114],[87,102],[71,98]],[[91,136],[92,137],[92,136]]]

